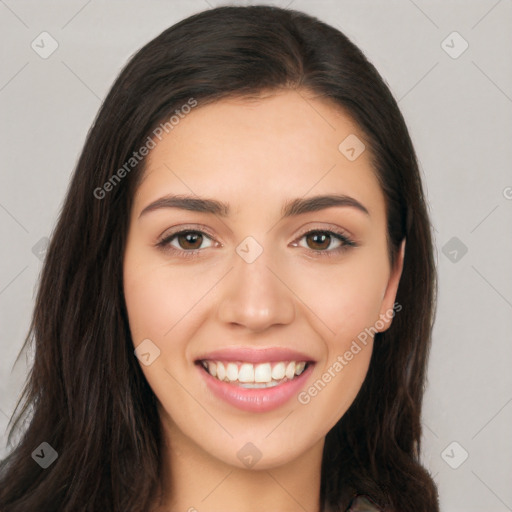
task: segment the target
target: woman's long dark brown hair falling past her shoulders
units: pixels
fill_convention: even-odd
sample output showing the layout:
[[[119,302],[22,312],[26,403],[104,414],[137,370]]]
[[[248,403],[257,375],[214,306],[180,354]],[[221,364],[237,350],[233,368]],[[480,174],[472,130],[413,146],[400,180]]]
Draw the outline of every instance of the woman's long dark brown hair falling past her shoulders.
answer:
[[[312,91],[358,124],[385,195],[391,263],[407,239],[396,298],[402,311],[376,335],[366,380],[327,434],[322,503],[345,510],[361,493],[386,510],[438,510],[419,460],[436,272],[404,119],[374,66],[338,30],[294,10],[226,6],[177,23],[139,50],[88,133],[25,340],[24,347],[34,343],[35,357],[9,443],[22,424],[23,433],[0,464],[2,512],[143,512],[154,500],[162,433],[133,353],[122,282],[145,159],[133,169],[126,162],[190,98],[201,106],[280,89]],[[123,165],[122,180],[113,180]],[[58,453],[47,469],[31,457],[41,442]]]

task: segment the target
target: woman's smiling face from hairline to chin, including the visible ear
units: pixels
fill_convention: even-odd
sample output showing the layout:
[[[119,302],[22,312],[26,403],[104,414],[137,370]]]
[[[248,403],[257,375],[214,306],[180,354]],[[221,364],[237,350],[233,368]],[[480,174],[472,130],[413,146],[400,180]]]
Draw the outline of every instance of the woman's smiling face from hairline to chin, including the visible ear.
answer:
[[[403,256],[391,269],[362,138],[330,103],[290,91],[198,106],[157,140],[124,293],[171,439],[276,467],[323,445],[354,401]]]

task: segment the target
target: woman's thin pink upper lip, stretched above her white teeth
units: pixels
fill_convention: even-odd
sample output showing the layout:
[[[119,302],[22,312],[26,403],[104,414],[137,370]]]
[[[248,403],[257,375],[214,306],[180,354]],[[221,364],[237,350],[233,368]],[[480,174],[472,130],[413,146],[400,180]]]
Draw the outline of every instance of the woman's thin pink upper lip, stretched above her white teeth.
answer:
[[[248,348],[248,347],[231,347],[200,355],[196,361],[244,361],[247,363],[274,363],[278,361],[306,361],[314,362],[315,360],[297,350],[284,347],[273,348]]]

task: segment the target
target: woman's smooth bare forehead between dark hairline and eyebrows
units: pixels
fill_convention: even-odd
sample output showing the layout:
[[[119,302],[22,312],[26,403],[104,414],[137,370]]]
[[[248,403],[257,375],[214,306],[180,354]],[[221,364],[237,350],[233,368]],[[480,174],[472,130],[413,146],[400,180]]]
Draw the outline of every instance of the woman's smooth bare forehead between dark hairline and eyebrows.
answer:
[[[156,140],[136,204],[187,193],[219,197],[236,213],[244,204],[338,192],[383,214],[368,146],[349,159],[345,140],[362,144],[364,135],[342,109],[303,91],[198,106]]]

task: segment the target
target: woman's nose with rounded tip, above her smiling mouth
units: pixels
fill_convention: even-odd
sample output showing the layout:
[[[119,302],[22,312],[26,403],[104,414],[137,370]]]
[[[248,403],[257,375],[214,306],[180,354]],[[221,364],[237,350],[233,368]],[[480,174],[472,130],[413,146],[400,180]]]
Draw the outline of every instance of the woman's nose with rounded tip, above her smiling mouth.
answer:
[[[218,318],[224,324],[261,332],[295,318],[294,294],[285,272],[263,253],[252,263],[235,256],[234,268],[226,276]]]

